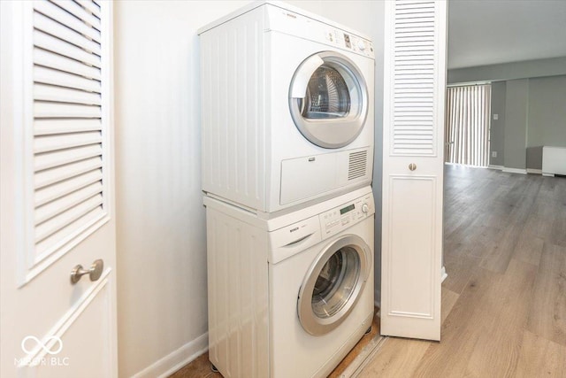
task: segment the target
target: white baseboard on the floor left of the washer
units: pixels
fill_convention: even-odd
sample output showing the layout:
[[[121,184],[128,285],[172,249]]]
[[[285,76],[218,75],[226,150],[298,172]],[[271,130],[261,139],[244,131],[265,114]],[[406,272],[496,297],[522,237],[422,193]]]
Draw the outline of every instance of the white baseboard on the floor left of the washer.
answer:
[[[172,351],[163,359],[159,359],[141,372],[134,374],[133,378],[164,378],[175,373],[181,367],[202,355],[209,349],[209,334],[198,336],[195,340]]]

